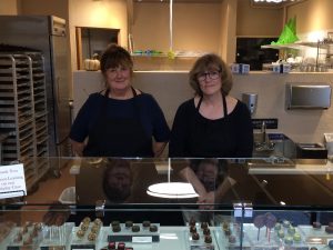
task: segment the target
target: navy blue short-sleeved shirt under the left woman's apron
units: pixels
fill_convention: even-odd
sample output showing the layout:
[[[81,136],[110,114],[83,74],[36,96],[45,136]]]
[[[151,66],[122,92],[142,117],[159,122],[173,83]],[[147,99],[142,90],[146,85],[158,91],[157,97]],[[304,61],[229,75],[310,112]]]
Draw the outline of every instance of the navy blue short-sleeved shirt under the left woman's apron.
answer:
[[[170,129],[161,108],[151,94],[141,93],[131,99],[118,100],[104,97],[99,92],[90,94],[80,109],[71,128],[70,138],[72,140],[84,141],[101,116],[100,111],[104,103],[107,104],[107,116],[115,119],[138,117],[148,137],[153,137],[158,142],[169,141]],[[100,132],[102,137],[103,131]]]

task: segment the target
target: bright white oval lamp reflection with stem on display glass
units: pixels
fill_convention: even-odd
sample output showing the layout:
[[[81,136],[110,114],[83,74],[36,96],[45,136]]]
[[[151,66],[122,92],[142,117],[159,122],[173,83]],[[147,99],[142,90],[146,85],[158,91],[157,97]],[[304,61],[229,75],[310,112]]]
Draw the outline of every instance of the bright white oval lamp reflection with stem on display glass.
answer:
[[[195,192],[193,186],[186,182],[171,182],[171,160],[168,160],[168,182],[151,184],[147,193],[152,197],[168,198],[168,199],[186,199],[195,198],[199,194]]]

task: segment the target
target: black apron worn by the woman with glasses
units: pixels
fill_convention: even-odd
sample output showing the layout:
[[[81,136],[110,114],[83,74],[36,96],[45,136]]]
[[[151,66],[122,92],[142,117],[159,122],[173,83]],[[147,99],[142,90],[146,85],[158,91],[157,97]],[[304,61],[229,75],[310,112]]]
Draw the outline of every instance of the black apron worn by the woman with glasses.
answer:
[[[234,140],[231,139],[229,131],[229,114],[226,109],[225,96],[222,94],[223,102],[223,119],[211,121],[203,118],[200,112],[200,106],[202,98],[196,106],[196,118],[194,130],[191,132],[189,139],[190,156],[204,157],[204,158],[223,158],[233,154],[233,150],[236,147]]]

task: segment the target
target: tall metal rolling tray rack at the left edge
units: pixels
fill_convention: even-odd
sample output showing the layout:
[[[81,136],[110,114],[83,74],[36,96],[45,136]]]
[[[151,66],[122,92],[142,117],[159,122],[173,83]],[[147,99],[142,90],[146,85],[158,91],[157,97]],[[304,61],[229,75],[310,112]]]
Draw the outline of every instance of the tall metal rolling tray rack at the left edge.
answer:
[[[49,169],[39,162],[48,154],[44,86],[41,54],[0,53],[0,128],[11,131],[2,161],[23,163],[28,190]]]

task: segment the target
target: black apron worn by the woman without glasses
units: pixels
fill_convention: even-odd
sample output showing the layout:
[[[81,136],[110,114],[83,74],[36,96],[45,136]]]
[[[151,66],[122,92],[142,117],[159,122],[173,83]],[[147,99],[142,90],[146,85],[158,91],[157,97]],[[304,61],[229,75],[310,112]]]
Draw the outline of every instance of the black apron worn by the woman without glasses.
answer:
[[[152,138],[141,121],[137,92],[132,88],[135,114],[132,118],[110,118],[107,112],[109,90],[100,114],[89,133],[84,157],[153,157]]]

